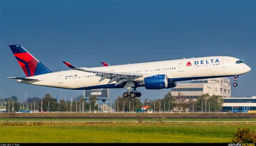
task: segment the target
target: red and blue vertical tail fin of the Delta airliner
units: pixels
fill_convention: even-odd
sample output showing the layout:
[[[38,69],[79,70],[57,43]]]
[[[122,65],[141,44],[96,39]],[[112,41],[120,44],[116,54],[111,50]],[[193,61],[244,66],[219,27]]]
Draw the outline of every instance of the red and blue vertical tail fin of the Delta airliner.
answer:
[[[33,57],[21,45],[9,45],[26,77],[48,74],[51,71]]]

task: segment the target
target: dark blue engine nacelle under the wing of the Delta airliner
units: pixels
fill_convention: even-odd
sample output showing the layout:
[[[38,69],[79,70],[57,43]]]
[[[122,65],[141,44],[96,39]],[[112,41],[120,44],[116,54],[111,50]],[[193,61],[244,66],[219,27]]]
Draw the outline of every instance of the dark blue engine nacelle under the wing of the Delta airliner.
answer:
[[[166,75],[156,75],[144,78],[144,86],[146,89],[164,89],[168,87]]]

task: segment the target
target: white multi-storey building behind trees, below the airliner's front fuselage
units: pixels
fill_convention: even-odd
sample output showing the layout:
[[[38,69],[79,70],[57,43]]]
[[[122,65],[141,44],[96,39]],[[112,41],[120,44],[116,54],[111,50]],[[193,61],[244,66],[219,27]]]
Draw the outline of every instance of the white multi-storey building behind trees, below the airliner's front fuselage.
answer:
[[[197,99],[202,94],[217,95],[224,98],[231,97],[229,78],[198,79],[191,83],[180,83],[171,89],[174,98]]]

